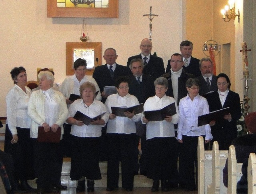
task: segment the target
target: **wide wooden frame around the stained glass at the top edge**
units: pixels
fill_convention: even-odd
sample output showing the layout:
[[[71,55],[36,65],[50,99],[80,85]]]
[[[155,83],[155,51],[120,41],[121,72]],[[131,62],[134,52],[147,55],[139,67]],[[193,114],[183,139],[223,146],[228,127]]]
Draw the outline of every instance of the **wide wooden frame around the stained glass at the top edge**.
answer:
[[[58,8],[57,0],[47,0],[48,18],[118,18],[118,0],[108,0],[108,8]]]

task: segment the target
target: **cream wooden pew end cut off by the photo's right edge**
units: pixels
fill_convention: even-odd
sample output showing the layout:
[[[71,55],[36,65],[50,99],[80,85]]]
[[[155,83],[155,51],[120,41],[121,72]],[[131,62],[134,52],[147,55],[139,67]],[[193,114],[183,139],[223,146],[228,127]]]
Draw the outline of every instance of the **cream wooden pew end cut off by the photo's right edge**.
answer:
[[[256,194],[256,154],[250,153],[248,162],[248,193]]]

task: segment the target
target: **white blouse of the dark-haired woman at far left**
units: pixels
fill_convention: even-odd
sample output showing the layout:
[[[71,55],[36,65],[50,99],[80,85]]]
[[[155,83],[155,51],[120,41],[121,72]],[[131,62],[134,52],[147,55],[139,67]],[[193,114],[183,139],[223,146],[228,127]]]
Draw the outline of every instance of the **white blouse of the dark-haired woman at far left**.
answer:
[[[30,128],[31,119],[28,116],[28,101],[31,90],[26,87],[24,92],[18,85],[14,85],[6,95],[7,124],[12,135],[17,134],[16,127]]]

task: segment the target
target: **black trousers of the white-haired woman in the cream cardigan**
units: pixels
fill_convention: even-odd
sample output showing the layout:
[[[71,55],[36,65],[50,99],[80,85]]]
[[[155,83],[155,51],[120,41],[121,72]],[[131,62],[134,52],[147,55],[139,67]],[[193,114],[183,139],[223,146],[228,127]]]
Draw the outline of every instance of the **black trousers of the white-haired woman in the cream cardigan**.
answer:
[[[60,160],[59,143],[39,143],[33,139],[34,145],[34,170],[37,176],[38,188],[50,188],[60,184],[62,165]]]

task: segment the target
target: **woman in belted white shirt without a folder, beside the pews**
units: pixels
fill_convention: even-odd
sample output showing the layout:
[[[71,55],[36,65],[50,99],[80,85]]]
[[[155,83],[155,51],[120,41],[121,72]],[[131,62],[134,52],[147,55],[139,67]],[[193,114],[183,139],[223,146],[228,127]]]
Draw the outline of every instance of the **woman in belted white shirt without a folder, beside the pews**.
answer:
[[[199,80],[186,81],[188,95],[180,100],[180,121],[178,122],[178,141],[182,143],[179,159],[180,181],[185,191],[196,190],[197,170],[197,143],[198,137],[203,136],[205,143],[212,139],[210,125],[197,127],[198,116],[209,113],[207,100],[198,94]]]

